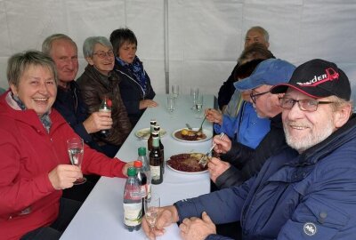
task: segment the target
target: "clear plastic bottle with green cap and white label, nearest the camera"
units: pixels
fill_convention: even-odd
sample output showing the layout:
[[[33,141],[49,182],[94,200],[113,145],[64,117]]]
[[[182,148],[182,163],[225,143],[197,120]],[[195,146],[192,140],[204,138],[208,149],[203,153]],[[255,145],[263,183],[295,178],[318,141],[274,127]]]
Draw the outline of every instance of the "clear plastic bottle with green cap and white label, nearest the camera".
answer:
[[[140,230],[142,222],[142,196],[136,177],[136,169],[127,169],[124,190],[124,224],[130,232]]]

